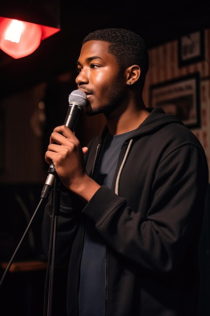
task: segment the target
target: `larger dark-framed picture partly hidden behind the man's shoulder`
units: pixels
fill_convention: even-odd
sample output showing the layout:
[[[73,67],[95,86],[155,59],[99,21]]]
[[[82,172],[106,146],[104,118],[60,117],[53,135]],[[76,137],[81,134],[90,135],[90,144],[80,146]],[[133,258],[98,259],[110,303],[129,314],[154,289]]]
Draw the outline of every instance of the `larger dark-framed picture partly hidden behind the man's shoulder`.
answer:
[[[189,129],[200,127],[200,74],[179,77],[149,89],[150,108],[161,107],[177,116]]]

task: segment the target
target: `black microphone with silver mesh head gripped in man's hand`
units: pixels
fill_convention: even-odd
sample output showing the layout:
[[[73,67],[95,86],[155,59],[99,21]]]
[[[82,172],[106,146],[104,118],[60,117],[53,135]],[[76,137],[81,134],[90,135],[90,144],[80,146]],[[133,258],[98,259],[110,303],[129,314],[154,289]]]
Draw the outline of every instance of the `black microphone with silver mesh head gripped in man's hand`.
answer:
[[[74,132],[77,121],[82,114],[87,101],[86,93],[81,90],[74,90],[68,96],[69,107],[63,124],[71,129],[72,132]],[[48,169],[48,176],[41,191],[41,198],[46,198],[51,191],[55,181],[55,175],[56,171],[52,163]]]

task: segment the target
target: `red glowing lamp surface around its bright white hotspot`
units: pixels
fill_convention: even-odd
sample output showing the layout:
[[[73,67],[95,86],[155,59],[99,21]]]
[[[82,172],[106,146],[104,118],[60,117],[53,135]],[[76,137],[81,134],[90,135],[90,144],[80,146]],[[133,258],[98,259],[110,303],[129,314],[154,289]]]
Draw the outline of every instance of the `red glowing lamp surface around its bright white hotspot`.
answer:
[[[11,57],[18,59],[32,54],[40,45],[41,41],[60,29],[23,22],[24,29],[18,43],[5,39],[7,29],[11,25],[13,19],[0,17],[0,48]]]

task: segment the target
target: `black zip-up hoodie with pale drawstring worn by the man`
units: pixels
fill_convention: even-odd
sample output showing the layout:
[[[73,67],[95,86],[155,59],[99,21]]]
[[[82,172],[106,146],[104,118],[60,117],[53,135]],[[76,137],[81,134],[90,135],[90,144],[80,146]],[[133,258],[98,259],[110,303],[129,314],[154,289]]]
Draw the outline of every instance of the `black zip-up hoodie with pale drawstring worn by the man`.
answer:
[[[105,134],[106,128],[88,145],[89,175]],[[69,260],[68,316],[78,315],[86,218],[107,245],[106,316],[197,315],[197,247],[207,184],[198,139],[175,116],[155,108],[122,146],[112,189],[102,186],[86,205],[63,189],[56,260]],[[50,202],[43,221],[46,253]]]

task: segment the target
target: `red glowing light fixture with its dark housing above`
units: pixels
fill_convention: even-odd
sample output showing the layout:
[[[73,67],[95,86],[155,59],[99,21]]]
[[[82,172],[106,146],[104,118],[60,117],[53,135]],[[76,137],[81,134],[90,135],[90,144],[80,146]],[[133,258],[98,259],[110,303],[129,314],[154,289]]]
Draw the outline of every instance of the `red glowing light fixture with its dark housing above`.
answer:
[[[0,17],[0,48],[14,59],[32,54],[42,40],[60,31],[58,1],[42,1],[43,8],[40,7],[39,1],[37,3],[25,1],[24,6],[23,2],[21,3],[22,6],[13,4],[16,13],[13,11],[10,16],[7,13],[7,17]],[[53,7],[55,9],[55,5],[56,11],[52,10]],[[14,6],[12,8],[14,10]],[[27,13],[25,13],[26,10]],[[54,12],[54,19],[47,19],[46,13],[49,12],[51,15]]]

